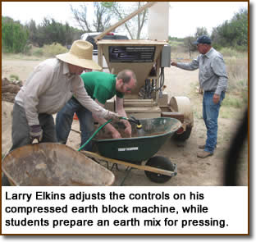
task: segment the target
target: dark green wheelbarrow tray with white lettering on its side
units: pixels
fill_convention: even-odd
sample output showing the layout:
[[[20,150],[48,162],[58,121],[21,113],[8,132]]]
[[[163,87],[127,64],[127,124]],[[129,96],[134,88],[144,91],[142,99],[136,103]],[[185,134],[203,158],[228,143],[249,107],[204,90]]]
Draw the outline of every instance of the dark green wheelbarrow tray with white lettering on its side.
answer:
[[[141,130],[132,124],[132,137],[122,139],[102,139],[104,135],[98,132],[94,144],[98,153],[103,157],[113,158],[126,162],[140,163],[151,158],[158,152],[162,144],[181,127],[181,121],[175,118],[159,117],[140,119]],[[121,131],[124,126],[115,126]],[[122,132],[121,132],[122,133]]]

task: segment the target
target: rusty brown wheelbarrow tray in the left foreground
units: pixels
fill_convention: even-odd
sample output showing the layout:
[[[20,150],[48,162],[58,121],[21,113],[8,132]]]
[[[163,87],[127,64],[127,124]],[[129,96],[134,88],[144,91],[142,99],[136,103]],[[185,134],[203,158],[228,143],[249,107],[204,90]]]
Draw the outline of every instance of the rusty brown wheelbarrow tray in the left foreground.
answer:
[[[65,144],[25,145],[8,153],[2,171],[11,185],[112,185],[112,171]]]

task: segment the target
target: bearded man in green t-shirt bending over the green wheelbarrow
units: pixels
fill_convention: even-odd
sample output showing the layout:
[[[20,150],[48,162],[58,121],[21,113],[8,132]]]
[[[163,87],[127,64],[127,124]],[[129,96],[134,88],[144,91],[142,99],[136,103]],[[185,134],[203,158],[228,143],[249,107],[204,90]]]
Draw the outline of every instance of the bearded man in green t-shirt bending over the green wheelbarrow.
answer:
[[[106,72],[86,72],[80,75],[85,84],[85,90],[96,103],[104,107],[108,99],[111,99],[115,95],[117,96],[117,113],[121,116],[126,116],[125,109],[123,107],[124,94],[131,93],[131,90],[135,88],[136,77],[135,73],[130,70],[124,70],[117,75]],[[72,97],[65,107],[57,113],[56,118],[56,130],[57,140],[59,143],[66,144],[66,140],[71,131],[71,125],[73,116],[76,113],[80,121],[81,130],[81,145],[85,144],[94,133],[94,121],[100,125],[104,124],[107,120],[95,116],[94,113],[83,107],[78,101],[78,97]],[[121,120],[126,125],[126,134],[131,135],[131,126],[128,121]],[[113,139],[120,139],[120,133],[108,123],[104,126],[104,129],[112,134]],[[85,150],[91,150],[92,144],[89,142],[84,147]]]

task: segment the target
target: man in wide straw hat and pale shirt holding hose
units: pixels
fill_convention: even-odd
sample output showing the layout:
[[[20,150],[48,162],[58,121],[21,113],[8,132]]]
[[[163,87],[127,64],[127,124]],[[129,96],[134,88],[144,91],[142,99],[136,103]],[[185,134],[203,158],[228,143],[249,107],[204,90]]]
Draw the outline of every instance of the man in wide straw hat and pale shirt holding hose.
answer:
[[[53,113],[57,113],[72,95],[90,112],[101,118],[118,119],[87,94],[80,78],[83,71],[101,70],[92,60],[93,45],[76,40],[68,53],[59,54],[34,68],[16,95],[12,118],[12,149],[39,142],[57,142]]]

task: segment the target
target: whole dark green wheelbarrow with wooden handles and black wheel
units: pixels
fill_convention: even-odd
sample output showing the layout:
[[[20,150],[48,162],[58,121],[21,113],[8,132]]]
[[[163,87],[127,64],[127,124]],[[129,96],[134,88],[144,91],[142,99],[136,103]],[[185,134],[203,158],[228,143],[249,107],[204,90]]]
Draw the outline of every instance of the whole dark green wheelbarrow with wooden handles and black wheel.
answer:
[[[181,121],[175,118],[159,117],[139,119],[139,123],[140,129],[136,128],[135,123],[131,123],[131,138],[126,138],[123,123],[113,123],[112,125],[124,138],[111,139],[111,135],[101,129],[92,139],[94,147],[97,148],[97,153],[80,152],[91,158],[125,165],[127,172],[121,185],[132,168],[144,170],[145,175],[153,182],[167,182],[172,176],[177,175],[176,164],[168,158],[153,155],[158,153],[162,144],[181,127]],[[142,162],[145,162],[145,164],[142,165]]]

